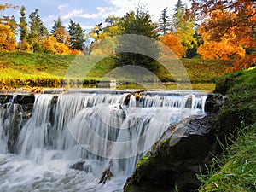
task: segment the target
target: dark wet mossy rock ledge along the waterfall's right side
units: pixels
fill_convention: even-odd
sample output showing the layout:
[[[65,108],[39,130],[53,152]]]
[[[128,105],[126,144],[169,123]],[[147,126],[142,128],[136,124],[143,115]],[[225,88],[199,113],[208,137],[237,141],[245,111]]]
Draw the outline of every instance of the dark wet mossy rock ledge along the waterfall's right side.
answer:
[[[125,192],[195,191],[201,183],[196,174],[204,172],[211,152],[216,150],[214,119],[224,97],[207,96],[207,115],[184,119],[170,127],[152,150],[138,161],[127,179]]]

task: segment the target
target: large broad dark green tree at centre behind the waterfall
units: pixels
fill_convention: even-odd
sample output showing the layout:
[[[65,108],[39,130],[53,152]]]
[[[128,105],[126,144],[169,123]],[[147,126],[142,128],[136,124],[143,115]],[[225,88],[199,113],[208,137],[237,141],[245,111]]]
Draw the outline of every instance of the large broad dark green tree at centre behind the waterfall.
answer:
[[[137,34],[154,39],[159,37],[158,33],[155,31],[148,9],[145,9],[143,6],[138,6],[136,13],[134,11],[127,13],[122,18],[120,25],[122,29],[121,34]],[[152,41],[144,40],[141,42],[142,40],[143,38],[139,36],[131,39],[121,39],[117,47],[117,52],[121,53],[118,55],[116,65],[138,65],[146,67],[151,71],[157,70],[153,58],[159,56],[160,49],[156,44],[152,43]],[[122,50],[125,50],[127,46],[132,46],[131,49],[137,53],[122,53]],[[147,55],[138,54],[141,53],[142,50],[146,50]]]

